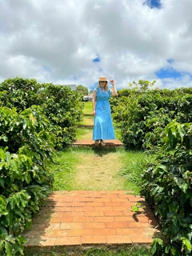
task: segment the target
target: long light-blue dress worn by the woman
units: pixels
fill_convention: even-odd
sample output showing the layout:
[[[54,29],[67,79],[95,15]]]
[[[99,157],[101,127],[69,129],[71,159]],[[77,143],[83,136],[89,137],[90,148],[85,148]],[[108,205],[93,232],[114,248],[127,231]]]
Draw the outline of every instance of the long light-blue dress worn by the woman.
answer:
[[[114,127],[109,102],[112,90],[102,91],[102,88],[95,88],[94,90],[97,92],[97,102],[95,106],[93,140],[114,139]]]

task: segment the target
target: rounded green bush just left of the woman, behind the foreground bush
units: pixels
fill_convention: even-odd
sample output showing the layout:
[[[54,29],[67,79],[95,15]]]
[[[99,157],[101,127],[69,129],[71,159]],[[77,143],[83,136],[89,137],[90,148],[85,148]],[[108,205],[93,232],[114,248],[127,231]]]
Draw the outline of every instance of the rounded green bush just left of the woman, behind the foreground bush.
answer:
[[[54,124],[62,146],[70,144],[77,134],[78,123],[82,121],[82,96],[68,86],[43,85],[42,109]]]

